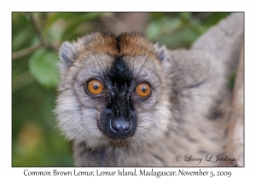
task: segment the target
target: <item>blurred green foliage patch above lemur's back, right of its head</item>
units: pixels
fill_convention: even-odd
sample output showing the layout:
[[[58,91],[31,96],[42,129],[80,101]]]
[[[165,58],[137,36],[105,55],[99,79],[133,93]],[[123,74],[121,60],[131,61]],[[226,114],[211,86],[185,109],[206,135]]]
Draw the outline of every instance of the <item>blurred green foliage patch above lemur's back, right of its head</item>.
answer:
[[[230,13],[152,13],[147,37],[169,49],[189,46]]]

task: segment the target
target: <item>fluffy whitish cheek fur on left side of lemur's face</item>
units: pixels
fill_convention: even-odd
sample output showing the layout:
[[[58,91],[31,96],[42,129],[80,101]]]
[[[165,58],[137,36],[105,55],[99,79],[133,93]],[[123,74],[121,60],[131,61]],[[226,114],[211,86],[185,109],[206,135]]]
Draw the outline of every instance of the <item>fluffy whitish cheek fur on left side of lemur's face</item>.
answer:
[[[102,145],[102,134],[97,129],[96,117],[91,116],[91,109],[79,105],[71,91],[63,91],[57,99],[58,126],[68,140],[86,141],[88,146]]]

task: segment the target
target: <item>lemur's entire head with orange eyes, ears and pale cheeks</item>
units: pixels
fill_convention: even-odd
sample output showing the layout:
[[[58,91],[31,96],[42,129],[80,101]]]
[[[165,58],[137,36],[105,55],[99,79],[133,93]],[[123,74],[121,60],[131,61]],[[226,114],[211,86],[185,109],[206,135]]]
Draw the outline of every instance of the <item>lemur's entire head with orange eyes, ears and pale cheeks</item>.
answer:
[[[102,147],[163,137],[172,119],[166,53],[138,34],[96,32],[63,43],[55,113],[67,139]]]

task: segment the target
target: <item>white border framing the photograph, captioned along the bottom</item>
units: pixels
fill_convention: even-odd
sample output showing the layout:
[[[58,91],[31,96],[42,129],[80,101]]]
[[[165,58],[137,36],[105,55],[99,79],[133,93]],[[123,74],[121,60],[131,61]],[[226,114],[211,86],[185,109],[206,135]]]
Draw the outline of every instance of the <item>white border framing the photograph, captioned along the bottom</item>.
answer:
[[[60,8],[61,7],[61,8]],[[255,149],[255,4],[253,1],[3,1],[1,3],[1,124],[0,124],[0,177],[26,178],[23,171],[27,168],[11,167],[11,12],[13,11],[245,11],[245,167],[244,168],[202,168],[202,170],[230,170],[232,177],[253,176]],[[28,168],[29,170],[53,170],[54,168]],[[56,168],[57,170],[73,170],[73,168]],[[140,168],[141,169],[141,168]],[[148,170],[148,168],[146,168]],[[163,168],[162,170],[178,170],[179,168]],[[96,170],[96,168],[79,170]],[[108,168],[108,170],[117,170]],[[160,168],[157,168],[160,170]],[[199,168],[184,168],[199,170]],[[56,178],[63,176],[47,176]],[[85,176],[79,176],[79,178]],[[115,178],[119,176],[114,176]],[[111,176],[111,178],[114,178]],[[155,176],[151,176],[155,177]],[[165,177],[165,176],[161,176]],[[160,178],[161,178],[160,177]],[[198,176],[191,176],[193,178]],[[32,176],[31,178],[34,178]],[[104,177],[105,178],[105,177]],[[106,177],[108,178],[108,177]],[[252,177],[250,177],[252,178]]]

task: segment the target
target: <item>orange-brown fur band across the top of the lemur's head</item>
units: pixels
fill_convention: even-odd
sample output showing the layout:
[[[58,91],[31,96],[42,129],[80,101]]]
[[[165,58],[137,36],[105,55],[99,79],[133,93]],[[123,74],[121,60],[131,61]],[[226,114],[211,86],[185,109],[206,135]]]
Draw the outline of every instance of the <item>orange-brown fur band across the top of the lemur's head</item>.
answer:
[[[107,53],[114,56],[144,55],[156,58],[154,44],[138,34],[124,33],[115,37],[113,35],[96,32],[93,40],[84,46],[83,54],[89,52]]]

